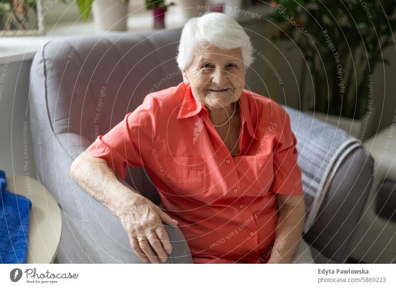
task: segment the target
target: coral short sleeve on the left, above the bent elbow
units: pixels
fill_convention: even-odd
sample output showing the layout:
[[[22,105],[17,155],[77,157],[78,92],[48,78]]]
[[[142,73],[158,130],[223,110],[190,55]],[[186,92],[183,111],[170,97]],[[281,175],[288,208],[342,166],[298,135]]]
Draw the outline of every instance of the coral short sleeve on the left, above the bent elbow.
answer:
[[[127,164],[145,166],[156,135],[157,100],[148,95],[143,103],[105,135],[99,135],[85,152],[104,159],[114,174],[125,179]]]

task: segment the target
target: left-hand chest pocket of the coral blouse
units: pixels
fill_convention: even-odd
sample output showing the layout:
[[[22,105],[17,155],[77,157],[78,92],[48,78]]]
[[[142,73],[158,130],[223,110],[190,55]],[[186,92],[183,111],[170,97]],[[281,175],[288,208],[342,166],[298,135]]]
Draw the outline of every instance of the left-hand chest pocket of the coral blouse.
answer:
[[[204,159],[174,156],[169,161],[168,183],[174,194],[199,200],[205,187]]]

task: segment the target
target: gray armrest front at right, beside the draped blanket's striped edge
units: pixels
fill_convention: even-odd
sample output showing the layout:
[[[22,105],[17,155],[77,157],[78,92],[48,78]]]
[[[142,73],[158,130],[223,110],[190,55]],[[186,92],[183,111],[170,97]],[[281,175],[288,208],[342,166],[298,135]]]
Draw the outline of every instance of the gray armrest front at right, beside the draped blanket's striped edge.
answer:
[[[304,239],[335,263],[348,256],[353,231],[371,188],[374,159],[363,148],[349,153],[325,195],[321,210]],[[317,259],[316,263],[320,263]]]

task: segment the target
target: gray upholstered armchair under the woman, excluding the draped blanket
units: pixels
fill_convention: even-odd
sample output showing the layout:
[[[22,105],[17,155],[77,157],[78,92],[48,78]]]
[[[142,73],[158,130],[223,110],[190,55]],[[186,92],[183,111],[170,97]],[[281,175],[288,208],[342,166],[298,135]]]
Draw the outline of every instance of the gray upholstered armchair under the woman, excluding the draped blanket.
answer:
[[[73,182],[69,168],[97,134],[120,122],[149,92],[182,81],[175,60],[180,33],[177,29],[65,38],[47,43],[36,54],[31,67],[30,125],[37,177],[61,208],[60,263],[140,262],[119,220]],[[345,260],[348,234],[358,221],[373,166],[362,149],[344,162],[317,221],[304,236],[337,262]],[[128,167],[125,181],[160,203],[143,167]],[[171,262],[190,263],[180,230],[166,229],[174,246]]]

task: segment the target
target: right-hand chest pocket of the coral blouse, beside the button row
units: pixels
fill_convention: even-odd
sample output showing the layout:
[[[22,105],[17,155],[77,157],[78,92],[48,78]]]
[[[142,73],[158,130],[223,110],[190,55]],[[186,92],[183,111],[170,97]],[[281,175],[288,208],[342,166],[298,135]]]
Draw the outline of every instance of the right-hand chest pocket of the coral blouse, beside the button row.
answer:
[[[274,163],[271,155],[241,156],[235,159],[241,175],[243,195],[266,196],[274,181]]]

